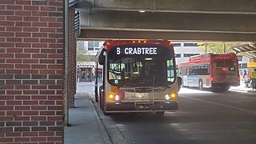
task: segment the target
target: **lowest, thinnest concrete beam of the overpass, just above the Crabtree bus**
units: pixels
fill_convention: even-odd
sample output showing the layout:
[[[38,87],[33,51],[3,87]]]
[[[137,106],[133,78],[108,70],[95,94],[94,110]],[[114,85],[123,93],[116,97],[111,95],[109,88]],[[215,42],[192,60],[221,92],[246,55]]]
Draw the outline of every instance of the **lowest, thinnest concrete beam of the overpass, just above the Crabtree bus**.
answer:
[[[78,40],[167,39],[186,42],[254,42],[255,38],[256,34],[82,29]]]

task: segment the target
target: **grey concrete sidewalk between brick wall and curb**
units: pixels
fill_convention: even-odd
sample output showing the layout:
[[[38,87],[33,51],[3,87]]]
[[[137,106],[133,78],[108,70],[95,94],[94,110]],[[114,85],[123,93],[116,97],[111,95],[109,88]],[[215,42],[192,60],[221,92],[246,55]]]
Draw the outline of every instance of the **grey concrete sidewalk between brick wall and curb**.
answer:
[[[86,87],[90,90],[92,88]],[[92,93],[79,86],[75,95],[75,108],[70,108],[70,126],[64,129],[65,144],[110,144],[102,121],[91,102]]]

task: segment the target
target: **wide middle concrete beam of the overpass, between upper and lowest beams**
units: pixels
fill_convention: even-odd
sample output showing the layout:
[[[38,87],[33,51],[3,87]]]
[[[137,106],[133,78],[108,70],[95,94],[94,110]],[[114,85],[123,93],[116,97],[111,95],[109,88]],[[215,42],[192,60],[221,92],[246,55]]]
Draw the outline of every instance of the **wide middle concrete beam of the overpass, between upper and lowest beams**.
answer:
[[[91,29],[256,34],[256,15],[94,11],[80,19]]]

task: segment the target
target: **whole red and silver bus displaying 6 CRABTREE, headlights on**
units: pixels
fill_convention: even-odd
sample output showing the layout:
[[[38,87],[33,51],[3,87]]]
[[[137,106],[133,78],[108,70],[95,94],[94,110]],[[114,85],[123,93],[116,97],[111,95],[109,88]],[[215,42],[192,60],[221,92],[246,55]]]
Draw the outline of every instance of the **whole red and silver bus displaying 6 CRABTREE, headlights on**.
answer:
[[[96,67],[103,65],[99,102],[104,114],[178,110],[181,78],[169,41],[109,40],[96,59]]]

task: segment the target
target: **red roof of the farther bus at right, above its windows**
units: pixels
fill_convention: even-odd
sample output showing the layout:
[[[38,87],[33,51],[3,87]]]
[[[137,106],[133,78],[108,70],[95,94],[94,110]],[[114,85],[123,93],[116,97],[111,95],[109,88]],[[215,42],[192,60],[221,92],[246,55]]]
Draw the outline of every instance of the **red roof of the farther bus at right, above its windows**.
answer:
[[[194,55],[189,58],[189,62],[182,62],[178,64],[178,66],[188,66],[193,64],[200,64],[200,63],[206,63],[210,62],[210,60],[237,60],[237,55],[234,53],[228,53],[228,54],[201,54],[201,55]]]

